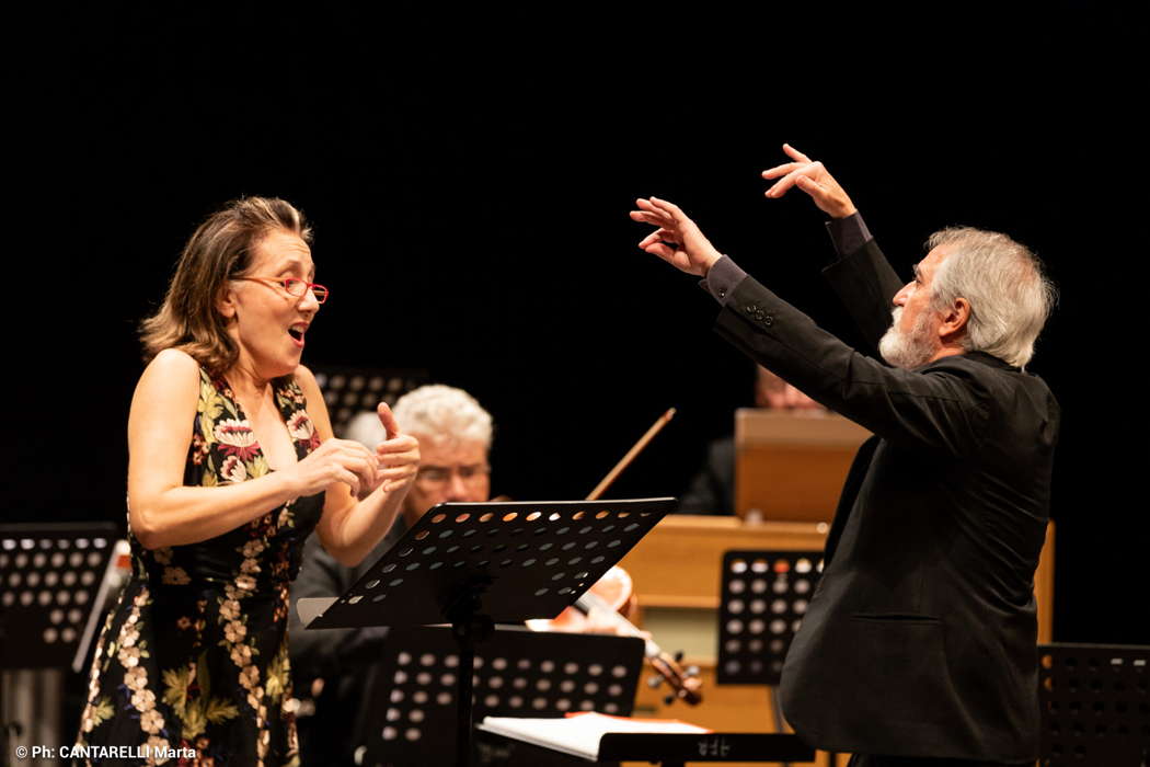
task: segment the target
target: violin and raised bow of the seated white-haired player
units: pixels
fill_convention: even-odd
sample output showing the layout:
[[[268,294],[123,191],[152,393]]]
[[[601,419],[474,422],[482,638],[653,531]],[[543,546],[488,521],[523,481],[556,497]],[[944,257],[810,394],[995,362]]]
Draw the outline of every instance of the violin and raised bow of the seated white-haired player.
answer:
[[[673,407],[664,413],[627,454],[623,455],[619,463],[607,473],[607,476],[596,485],[591,494],[586,497],[586,500],[598,500],[622,470],[635,460],[635,457],[646,447],[647,443],[674,416],[675,408]],[[527,626],[535,631],[576,632],[593,630],[596,627],[606,627],[619,636],[638,637],[643,639],[646,659],[651,662],[651,667],[654,668],[656,674],[658,674],[654,677],[656,685],[661,681],[666,681],[674,690],[674,693],[668,696],[666,703],[670,704],[675,699],[680,699],[691,706],[702,703],[703,695],[699,690],[703,683],[699,681],[698,669],[688,668],[684,670],[680,666],[682,653],[670,655],[656,644],[649,632],[641,630],[627,620],[627,615],[631,613],[634,607],[635,591],[631,576],[623,568],[615,566],[580,596],[574,605],[564,609],[557,618],[552,620],[528,621]]]

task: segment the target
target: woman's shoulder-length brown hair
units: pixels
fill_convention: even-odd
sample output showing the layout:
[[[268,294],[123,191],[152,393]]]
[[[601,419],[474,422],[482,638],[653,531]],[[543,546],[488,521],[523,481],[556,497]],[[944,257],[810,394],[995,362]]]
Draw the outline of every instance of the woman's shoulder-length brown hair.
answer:
[[[144,361],[166,348],[178,348],[209,375],[228,370],[239,350],[228,336],[216,302],[224,284],[251,266],[255,245],[276,230],[312,243],[302,212],[278,198],[240,198],[208,216],[184,246],[160,310],[140,323]]]

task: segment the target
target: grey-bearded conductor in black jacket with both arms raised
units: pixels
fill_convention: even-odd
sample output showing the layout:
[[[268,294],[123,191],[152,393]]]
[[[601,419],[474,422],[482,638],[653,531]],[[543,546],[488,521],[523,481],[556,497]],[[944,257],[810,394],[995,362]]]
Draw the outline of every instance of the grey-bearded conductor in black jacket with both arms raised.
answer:
[[[827,537],[822,578],[780,700],[808,744],[852,767],[1033,764],[1038,750],[1034,573],[1050,514],[1059,408],[1023,369],[1053,304],[1038,260],[1005,235],[930,237],[905,285],[820,162],[767,171],[825,213],[825,271],[888,367],[846,346],[722,255],[675,205],[637,201],[641,243],[704,278],[728,342],[875,436]]]

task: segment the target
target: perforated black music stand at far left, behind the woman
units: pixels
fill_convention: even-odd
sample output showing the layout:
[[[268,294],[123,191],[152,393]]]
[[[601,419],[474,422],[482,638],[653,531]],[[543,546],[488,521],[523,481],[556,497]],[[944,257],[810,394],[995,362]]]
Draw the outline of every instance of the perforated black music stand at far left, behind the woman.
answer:
[[[0,526],[0,706],[6,669],[83,669],[117,537],[110,522]],[[0,711],[0,765],[8,731]]]

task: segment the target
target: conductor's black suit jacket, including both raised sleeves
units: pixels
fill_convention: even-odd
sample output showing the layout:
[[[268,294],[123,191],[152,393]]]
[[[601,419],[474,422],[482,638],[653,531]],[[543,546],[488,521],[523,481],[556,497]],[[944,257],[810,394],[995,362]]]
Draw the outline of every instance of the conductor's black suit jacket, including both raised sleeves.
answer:
[[[871,340],[899,281],[873,241],[828,270]],[[1058,405],[982,353],[900,370],[747,277],[716,330],[874,432],[848,477],[780,689],[795,731],[856,753],[1037,753],[1034,572]]]

